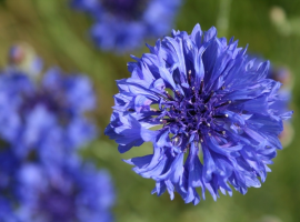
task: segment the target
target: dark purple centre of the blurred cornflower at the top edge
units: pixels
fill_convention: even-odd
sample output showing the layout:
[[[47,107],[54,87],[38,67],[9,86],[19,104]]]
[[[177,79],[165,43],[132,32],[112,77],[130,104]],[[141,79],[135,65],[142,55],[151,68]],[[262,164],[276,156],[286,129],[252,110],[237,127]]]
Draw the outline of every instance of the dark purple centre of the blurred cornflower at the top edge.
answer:
[[[148,4],[148,0],[102,0],[101,2],[110,13],[130,21],[140,19]]]

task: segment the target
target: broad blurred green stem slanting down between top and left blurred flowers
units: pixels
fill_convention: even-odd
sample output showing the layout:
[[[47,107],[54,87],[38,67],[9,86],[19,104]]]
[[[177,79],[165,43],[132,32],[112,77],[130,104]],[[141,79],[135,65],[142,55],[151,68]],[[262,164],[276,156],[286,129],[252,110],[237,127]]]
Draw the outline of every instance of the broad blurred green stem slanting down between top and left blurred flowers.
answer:
[[[110,77],[107,74],[110,72],[109,67],[73,33],[70,26],[61,18],[62,16],[58,11],[58,9],[61,9],[61,6],[58,1],[36,0],[33,2],[38,8],[37,11],[40,12],[39,16],[48,31],[49,38],[54,41],[56,47],[71,59],[78,69],[92,75],[94,80],[102,82],[101,87],[104,90],[111,91],[111,83],[113,81],[110,81]],[[96,59],[98,60],[96,61]]]

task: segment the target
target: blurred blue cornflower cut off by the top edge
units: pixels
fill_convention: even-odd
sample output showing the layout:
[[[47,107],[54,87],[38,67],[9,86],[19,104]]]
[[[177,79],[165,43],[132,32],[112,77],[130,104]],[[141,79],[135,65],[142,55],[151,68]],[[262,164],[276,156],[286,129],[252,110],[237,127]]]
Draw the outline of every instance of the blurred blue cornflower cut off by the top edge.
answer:
[[[103,50],[137,49],[144,39],[166,34],[181,0],[72,0],[72,7],[90,13],[90,34]]]

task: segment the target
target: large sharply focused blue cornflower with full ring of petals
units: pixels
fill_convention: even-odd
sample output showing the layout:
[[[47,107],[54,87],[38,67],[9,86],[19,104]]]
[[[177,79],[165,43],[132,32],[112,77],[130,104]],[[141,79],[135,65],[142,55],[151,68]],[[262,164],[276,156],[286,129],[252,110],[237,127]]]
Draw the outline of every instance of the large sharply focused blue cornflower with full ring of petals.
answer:
[[[121,153],[153,143],[152,154],[126,162],[156,181],[152,193],[168,190],[173,199],[177,191],[186,203],[200,201],[196,188],[214,200],[219,190],[231,195],[231,186],[242,194],[259,188],[282,148],[282,120],[292,114],[271,108],[281,84],[266,78],[269,62],[254,65],[238,41],[199,24],[190,36],[173,31],[149,49],[132,57],[131,77],[117,82],[106,129]]]

